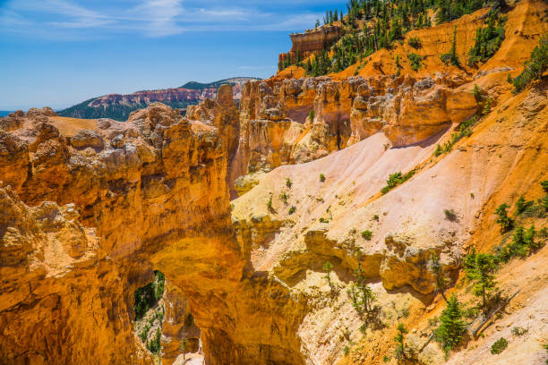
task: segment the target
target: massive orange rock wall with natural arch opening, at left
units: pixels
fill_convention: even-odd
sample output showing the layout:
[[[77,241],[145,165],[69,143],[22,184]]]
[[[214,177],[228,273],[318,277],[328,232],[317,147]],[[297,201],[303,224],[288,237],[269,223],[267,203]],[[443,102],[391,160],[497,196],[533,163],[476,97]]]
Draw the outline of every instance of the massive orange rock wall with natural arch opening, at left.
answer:
[[[177,288],[167,320],[192,312],[208,363],[304,363],[305,303],[250,269],[230,225],[231,96],[196,107],[200,121],[159,104],[85,130],[49,110],[3,120],[3,363],[149,363],[132,318],[152,269]]]

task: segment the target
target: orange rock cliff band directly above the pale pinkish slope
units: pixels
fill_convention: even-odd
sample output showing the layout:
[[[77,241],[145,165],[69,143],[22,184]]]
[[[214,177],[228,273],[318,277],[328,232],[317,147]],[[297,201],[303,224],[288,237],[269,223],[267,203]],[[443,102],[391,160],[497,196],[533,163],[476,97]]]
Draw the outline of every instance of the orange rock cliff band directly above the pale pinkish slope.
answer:
[[[377,132],[394,147],[427,140],[475,114],[464,82],[437,74],[248,83],[233,177],[309,162]]]

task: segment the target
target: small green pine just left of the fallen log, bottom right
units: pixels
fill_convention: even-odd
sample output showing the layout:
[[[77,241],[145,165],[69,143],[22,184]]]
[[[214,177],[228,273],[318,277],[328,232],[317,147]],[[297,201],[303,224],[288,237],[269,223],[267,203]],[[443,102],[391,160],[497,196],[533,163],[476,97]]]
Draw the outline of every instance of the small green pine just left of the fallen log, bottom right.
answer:
[[[466,324],[462,319],[460,303],[457,295],[453,294],[447,302],[447,307],[441,312],[441,325],[438,327],[437,335],[443,344],[443,349],[449,354],[450,350],[455,348],[462,340]]]

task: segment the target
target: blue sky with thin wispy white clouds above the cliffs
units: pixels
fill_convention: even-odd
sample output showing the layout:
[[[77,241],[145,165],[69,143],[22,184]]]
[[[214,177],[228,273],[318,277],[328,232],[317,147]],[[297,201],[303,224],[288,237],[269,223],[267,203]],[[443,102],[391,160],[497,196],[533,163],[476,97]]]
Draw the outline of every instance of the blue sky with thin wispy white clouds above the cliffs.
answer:
[[[333,0],[0,0],[0,110],[269,77]]]

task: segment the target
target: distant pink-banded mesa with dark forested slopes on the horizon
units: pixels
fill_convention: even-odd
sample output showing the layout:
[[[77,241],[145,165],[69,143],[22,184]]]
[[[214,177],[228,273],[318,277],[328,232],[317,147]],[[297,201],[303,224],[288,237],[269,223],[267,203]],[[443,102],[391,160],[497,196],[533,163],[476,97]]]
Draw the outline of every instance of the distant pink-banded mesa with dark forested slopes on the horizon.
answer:
[[[109,94],[90,98],[75,106],[59,111],[60,116],[81,119],[111,118],[125,121],[135,110],[146,108],[151,103],[160,102],[178,109],[185,109],[200,103],[206,98],[216,98],[220,85],[230,84],[234,89],[234,98],[242,98],[242,86],[247,81],[258,81],[253,77],[236,77],[210,83],[190,81],[174,89],[142,90],[133,94]]]

